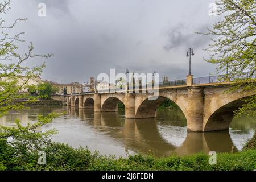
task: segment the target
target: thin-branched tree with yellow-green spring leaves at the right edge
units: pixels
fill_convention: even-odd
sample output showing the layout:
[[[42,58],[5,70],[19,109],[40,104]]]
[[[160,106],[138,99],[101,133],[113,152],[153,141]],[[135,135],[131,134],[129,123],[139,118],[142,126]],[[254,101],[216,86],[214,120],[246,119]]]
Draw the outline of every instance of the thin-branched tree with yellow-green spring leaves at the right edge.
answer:
[[[256,71],[256,1],[218,0],[216,14],[222,20],[207,28],[204,35],[213,38],[205,49],[210,52],[209,63],[217,64],[217,73],[228,72],[222,80],[234,82],[228,92],[255,91]],[[256,96],[245,99],[244,105],[236,111],[237,117],[246,114],[255,117]]]

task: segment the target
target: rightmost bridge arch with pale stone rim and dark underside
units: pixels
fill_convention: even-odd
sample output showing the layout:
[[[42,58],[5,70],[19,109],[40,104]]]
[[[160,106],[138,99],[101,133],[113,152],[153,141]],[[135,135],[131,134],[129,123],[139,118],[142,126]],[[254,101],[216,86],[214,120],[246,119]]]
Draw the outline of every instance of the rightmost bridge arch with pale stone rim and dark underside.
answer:
[[[228,130],[234,118],[234,111],[246,102],[244,99],[254,96],[255,93],[234,93],[228,97],[220,96],[212,101],[212,108],[205,111],[203,131]]]

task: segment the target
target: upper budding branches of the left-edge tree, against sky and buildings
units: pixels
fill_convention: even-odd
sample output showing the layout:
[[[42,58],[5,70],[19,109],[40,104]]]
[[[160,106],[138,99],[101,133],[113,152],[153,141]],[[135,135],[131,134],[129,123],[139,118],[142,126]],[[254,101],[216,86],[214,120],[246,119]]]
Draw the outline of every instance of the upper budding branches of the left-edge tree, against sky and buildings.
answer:
[[[0,2],[0,14],[7,14],[10,10],[10,1]],[[28,94],[24,90],[28,89],[28,82],[38,78],[44,68],[43,65],[28,67],[27,60],[34,57],[50,57],[51,55],[37,55],[33,53],[34,46],[30,42],[28,51],[22,53],[17,46],[25,41],[20,38],[24,32],[9,35],[14,32],[18,22],[26,19],[18,18],[13,23],[7,23],[3,16],[0,16],[0,117],[10,109],[24,109],[27,102],[34,102],[34,99],[27,100]],[[24,102],[14,102],[16,100],[26,100]]]

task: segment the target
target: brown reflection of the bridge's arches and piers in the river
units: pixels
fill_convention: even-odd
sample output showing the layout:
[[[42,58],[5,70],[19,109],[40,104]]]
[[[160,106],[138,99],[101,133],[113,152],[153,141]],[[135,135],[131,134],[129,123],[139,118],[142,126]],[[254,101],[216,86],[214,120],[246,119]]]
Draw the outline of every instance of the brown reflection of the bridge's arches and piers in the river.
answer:
[[[90,109],[67,108],[68,115],[80,118],[98,133],[118,140],[125,150],[152,152],[156,156],[194,154],[203,151],[236,152],[228,130],[205,133],[187,132],[182,115],[168,115],[164,119],[126,119],[124,113],[95,112]],[[161,116],[161,113],[158,115]],[[169,120],[170,119],[170,120]],[[160,125],[160,126],[159,126]],[[170,130],[162,130],[168,125]],[[171,133],[170,133],[171,132]],[[172,133],[173,132],[173,133]],[[179,140],[180,142],[176,141]]]

